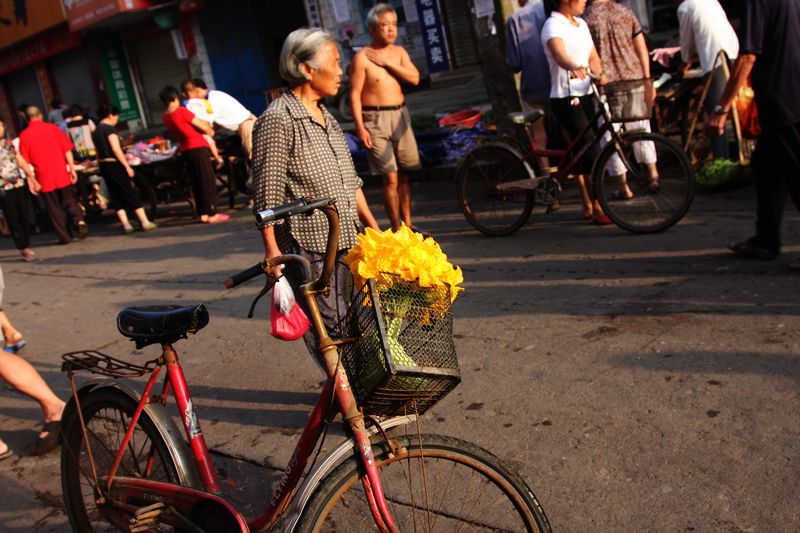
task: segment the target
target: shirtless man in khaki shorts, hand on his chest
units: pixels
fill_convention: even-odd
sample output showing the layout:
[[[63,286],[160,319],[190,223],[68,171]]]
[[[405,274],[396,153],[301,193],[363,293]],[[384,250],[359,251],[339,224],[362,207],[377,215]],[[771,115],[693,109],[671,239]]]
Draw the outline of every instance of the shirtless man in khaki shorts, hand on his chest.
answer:
[[[383,176],[383,205],[392,223],[411,224],[411,187],[407,171],[420,168],[411,117],[403,103],[400,82],[417,85],[419,71],[408,52],[394,44],[397,13],[378,4],[367,14],[372,42],[353,60],[350,102],[358,138],[369,151],[370,171]]]

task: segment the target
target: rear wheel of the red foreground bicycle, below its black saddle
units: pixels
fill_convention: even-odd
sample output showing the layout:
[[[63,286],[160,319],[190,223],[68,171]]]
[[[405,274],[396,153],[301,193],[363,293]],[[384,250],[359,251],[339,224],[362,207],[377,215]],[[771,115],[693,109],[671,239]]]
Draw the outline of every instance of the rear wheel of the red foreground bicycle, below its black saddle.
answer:
[[[136,403],[128,396],[114,391],[90,392],[81,398],[81,410],[97,476],[101,484],[114,463],[122,439],[131,423]],[[133,436],[122,456],[120,476],[153,479],[179,484],[178,468],[169,448],[153,422],[143,412]],[[119,531],[98,507],[94,475],[89,462],[86,442],[77,416],[66,421],[64,444],[61,449],[61,486],[64,507],[73,531]],[[152,502],[128,502],[141,506]]]

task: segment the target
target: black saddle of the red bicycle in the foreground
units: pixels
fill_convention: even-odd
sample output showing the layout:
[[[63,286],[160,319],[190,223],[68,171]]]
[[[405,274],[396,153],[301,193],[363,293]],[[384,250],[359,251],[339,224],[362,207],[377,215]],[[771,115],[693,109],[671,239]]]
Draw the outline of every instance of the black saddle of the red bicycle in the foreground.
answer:
[[[137,348],[150,344],[172,344],[197,333],[208,324],[208,310],[203,304],[150,305],[126,307],[117,315],[117,329],[123,337],[136,342]]]

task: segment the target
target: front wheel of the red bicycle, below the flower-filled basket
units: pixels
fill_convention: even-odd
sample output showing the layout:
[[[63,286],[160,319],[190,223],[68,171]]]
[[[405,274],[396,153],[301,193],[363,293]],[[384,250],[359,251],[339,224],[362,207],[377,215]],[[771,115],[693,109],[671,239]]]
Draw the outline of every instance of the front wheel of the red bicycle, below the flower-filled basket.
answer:
[[[550,531],[525,482],[486,450],[442,435],[397,438],[405,451],[373,445],[389,511],[400,531]],[[300,531],[375,531],[357,459],[315,491]]]

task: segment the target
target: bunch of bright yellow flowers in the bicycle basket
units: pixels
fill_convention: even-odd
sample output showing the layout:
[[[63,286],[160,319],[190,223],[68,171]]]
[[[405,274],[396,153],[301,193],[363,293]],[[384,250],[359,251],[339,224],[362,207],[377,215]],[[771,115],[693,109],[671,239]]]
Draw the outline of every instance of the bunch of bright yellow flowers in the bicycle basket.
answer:
[[[439,244],[403,224],[399,230],[377,232],[367,228],[345,256],[356,286],[374,279],[378,290],[386,290],[396,278],[420,287],[447,285],[450,301],[456,299],[464,281],[461,268],[454,267]],[[391,274],[391,275],[386,275]]]

